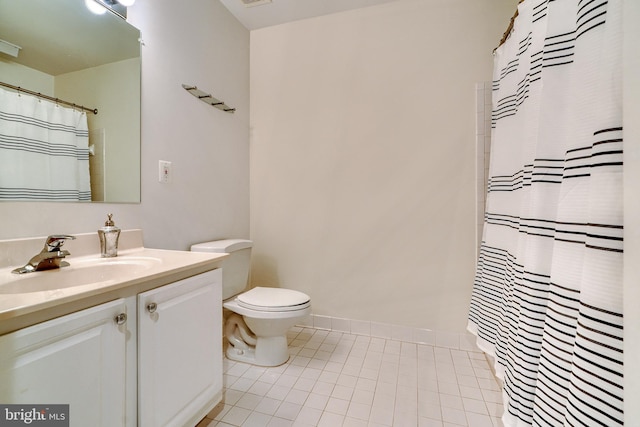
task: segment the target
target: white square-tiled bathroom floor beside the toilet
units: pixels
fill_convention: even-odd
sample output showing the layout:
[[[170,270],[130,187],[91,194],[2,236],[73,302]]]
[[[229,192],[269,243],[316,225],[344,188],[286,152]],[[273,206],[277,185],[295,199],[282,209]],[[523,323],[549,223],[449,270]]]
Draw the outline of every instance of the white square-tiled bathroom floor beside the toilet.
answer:
[[[502,427],[483,353],[295,327],[291,358],[224,361],[224,398],[197,427]]]

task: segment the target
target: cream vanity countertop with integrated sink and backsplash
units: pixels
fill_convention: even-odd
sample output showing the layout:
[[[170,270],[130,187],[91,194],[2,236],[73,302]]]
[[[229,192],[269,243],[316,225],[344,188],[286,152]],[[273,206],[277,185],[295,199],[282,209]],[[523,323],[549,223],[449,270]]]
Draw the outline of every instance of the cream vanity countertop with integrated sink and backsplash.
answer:
[[[130,230],[122,234],[124,248],[117,257],[101,258],[94,234],[77,235],[76,241],[65,243],[70,265],[60,269],[19,275],[11,270],[20,265],[0,265],[0,334],[216,269],[228,256],[145,248],[141,230]],[[33,240],[44,238],[27,242],[32,252]],[[20,243],[0,241],[0,253],[29,253],[16,249],[24,246]],[[95,247],[98,252],[91,253]]]

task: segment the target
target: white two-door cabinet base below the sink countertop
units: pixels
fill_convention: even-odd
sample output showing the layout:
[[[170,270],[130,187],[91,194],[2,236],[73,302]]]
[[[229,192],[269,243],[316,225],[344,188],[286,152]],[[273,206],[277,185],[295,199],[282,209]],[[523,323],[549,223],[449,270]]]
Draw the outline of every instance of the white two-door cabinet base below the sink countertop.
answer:
[[[69,404],[71,427],[204,418],[222,399],[221,270],[122,295],[0,336],[0,404]]]

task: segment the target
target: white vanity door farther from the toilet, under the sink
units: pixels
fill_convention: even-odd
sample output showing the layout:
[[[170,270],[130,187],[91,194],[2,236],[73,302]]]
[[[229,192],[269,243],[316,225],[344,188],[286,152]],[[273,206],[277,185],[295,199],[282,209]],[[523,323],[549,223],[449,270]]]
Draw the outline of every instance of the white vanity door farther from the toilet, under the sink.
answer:
[[[69,404],[71,426],[125,425],[125,300],[0,337],[0,402]]]

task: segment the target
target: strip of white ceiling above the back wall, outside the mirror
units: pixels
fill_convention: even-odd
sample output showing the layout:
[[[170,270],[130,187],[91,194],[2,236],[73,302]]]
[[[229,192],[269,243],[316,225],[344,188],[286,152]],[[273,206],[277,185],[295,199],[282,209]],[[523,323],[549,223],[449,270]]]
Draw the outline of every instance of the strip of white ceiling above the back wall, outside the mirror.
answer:
[[[249,30],[393,1],[397,0],[272,0],[246,7],[242,0],[220,0]]]

